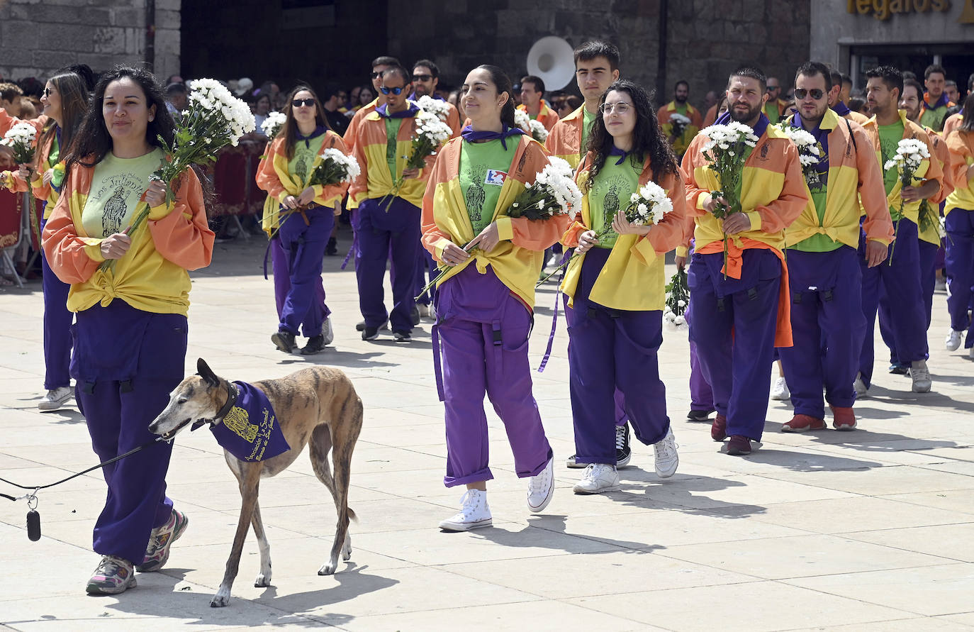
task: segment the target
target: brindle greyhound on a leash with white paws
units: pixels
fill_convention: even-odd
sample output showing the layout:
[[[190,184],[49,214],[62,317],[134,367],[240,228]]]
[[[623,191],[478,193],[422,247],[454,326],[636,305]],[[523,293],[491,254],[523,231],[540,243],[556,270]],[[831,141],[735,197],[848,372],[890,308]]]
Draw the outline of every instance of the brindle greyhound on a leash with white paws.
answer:
[[[199,375],[182,380],[169,395],[169,404],[149,424],[149,431],[171,439],[187,424],[205,420],[212,425],[223,422],[224,415],[236,402],[237,386],[218,377],[206,365],[203,358],[197,361]],[[338,526],[331,557],[318,569],[318,574],[332,574],[338,567],[338,554],[348,561],[352,556],[352,536],[348,533],[349,520],[356,514],[349,508],[349,475],[352,451],[356,447],[362,425],[362,403],[356,395],[352,380],[338,369],[314,367],[303,369],[280,379],[253,382],[273,405],[279,419],[283,438],[290,450],[266,460],[242,460],[224,450],[227,464],[240,485],[240,520],[234,545],[227,559],[223,582],[209,605],[218,608],[230,602],[230,589],[240,567],[241,551],[247,528],[253,525],[260,548],[260,574],[254,586],[265,587],[271,583],[271,549],[264,533],[257,504],[257,491],[262,477],[274,476],[283,471],[309,445],[312,467],[318,480],[328,488],[338,510]],[[194,426],[195,428],[196,426]],[[251,426],[252,427],[252,426]],[[328,465],[328,452],[335,466],[334,478]]]

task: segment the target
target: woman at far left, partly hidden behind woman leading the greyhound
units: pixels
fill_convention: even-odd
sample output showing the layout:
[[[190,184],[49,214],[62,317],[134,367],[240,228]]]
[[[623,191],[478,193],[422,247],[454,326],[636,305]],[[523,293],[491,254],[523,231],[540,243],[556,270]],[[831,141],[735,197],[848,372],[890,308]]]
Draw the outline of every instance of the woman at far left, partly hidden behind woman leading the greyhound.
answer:
[[[87,66],[86,66],[87,67]],[[39,231],[57,203],[64,181],[60,161],[88,109],[88,85],[73,71],[60,72],[48,80],[41,97],[47,122],[37,137],[37,151],[31,165],[20,165],[17,172],[0,174],[0,182],[13,191],[29,186],[35,198],[44,202],[44,218]],[[41,252],[44,271],[44,388],[48,393],[38,403],[42,411],[56,411],[71,398],[68,364],[71,360],[70,327],[74,315],[67,309],[68,284],[60,281]]]

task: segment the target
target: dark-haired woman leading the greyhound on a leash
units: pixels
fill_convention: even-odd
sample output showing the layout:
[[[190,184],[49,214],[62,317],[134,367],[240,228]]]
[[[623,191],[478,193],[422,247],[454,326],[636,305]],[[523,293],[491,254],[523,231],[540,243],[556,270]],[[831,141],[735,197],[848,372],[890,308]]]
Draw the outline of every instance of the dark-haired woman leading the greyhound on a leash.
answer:
[[[71,284],[71,376],[101,460],[153,439],[149,422],[183,377],[187,270],[205,267],[212,255],[196,174],[185,171],[169,187],[150,179],[164,162],[163,142],[172,145],[173,123],[155,77],[124,66],[106,72],[75,133],[44,229],[51,269]],[[133,227],[145,209],[146,225]],[[115,264],[101,265],[106,260]],[[124,592],[135,585],[133,565],[145,573],[168,560],[187,524],[166,497],[171,450],[156,443],[104,467],[108,496],[94,526],[102,557],[89,593]]]

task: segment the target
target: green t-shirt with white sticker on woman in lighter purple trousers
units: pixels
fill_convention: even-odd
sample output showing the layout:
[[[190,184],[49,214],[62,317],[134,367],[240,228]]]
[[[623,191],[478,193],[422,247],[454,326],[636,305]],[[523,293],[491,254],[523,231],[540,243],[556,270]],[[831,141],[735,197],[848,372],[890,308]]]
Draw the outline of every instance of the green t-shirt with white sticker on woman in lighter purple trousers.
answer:
[[[460,147],[460,188],[467,202],[473,234],[478,235],[494,220],[494,211],[517,151],[517,138],[486,142],[464,141]]]

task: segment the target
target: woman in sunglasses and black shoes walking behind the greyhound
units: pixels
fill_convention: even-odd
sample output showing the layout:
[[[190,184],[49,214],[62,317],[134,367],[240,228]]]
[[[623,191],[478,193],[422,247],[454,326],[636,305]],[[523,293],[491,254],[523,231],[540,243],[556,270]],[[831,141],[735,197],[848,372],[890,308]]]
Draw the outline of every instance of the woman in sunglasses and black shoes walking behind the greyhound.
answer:
[[[290,353],[297,348],[294,336],[300,329],[308,338],[301,353],[310,355],[334,337],[331,312],[324,304],[321,259],[349,187],[348,182],[312,184],[312,176],[325,149],[349,151],[328,128],[324,108],[311,88],[292,90],[284,114],[281,131],[257,171],[257,186],[268,193],[264,229],[272,237],[274,289],[280,305],[281,322],[271,340]]]

